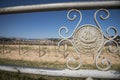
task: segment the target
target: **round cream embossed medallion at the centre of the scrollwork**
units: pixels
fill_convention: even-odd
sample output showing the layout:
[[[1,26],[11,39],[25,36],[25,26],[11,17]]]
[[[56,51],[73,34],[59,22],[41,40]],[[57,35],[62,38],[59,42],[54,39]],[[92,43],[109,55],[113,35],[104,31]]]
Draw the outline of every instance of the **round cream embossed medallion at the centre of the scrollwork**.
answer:
[[[104,42],[100,29],[92,25],[79,27],[73,35],[73,40],[80,53],[96,53]]]

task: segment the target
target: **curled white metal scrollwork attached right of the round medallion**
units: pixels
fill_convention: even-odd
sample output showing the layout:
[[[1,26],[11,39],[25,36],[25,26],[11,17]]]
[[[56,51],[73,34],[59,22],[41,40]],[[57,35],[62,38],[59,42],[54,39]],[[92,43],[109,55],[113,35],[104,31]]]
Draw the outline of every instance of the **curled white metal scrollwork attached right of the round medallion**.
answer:
[[[106,16],[106,17],[103,17],[102,15],[100,15],[100,18],[101,18],[102,20],[108,19],[109,16],[110,16],[110,13],[109,13],[109,11],[108,11],[107,9],[99,9],[99,10],[97,10],[97,11],[95,12],[95,14],[94,14],[94,20],[95,20],[95,22],[96,22],[96,24],[97,24],[97,27],[100,28],[100,30],[102,31],[102,27],[100,26],[100,24],[99,24],[99,22],[98,22],[98,20],[97,20],[97,18],[96,18],[97,13],[98,13],[99,11],[104,11],[104,12],[107,13],[107,16]],[[114,30],[114,32],[115,32],[115,35],[114,35],[113,37],[111,37],[111,35],[109,34],[109,31],[110,31],[111,29]],[[102,32],[103,32],[103,31],[102,31]],[[109,45],[109,46],[108,46],[108,50],[109,50],[110,52],[117,52],[117,51],[118,51],[118,43],[114,40],[114,39],[118,36],[118,31],[117,31],[117,29],[116,29],[115,27],[113,27],[113,26],[108,27],[106,33],[108,34],[108,36],[106,36],[105,34],[103,34],[103,36],[107,39],[106,41],[104,41],[103,47],[104,47],[105,44],[107,44],[108,42],[113,42],[113,43],[116,45],[116,49],[115,49],[115,50],[111,50],[111,46]],[[103,47],[102,47],[102,49],[103,49]],[[96,57],[96,60],[95,60],[96,67],[97,67],[98,69],[100,69],[100,70],[108,70],[108,69],[110,69],[110,67],[111,67],[111,62],[110,62],[109,59],[104,58],[104,59],[102,59],[102,61],[101,61],[102,64],[104,64],[104,63],[106,62],[107,65],[106,65],[105,68],[102,68],[102,67],[100,67],[100,66],[98,65],[98,59],[99,59],[99,56],[101,55],[102,49],[98,52],[98,55],[97,55],[97,57]]]

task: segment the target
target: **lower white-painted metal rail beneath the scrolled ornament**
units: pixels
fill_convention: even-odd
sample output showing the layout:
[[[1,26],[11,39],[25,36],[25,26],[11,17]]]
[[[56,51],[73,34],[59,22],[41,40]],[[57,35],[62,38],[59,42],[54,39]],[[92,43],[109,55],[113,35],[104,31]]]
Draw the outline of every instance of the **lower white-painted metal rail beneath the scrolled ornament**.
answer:
[[[0,65],[0,70],[27,73],[27,74],[46,75],[46,76],[120,79],[120,71],[115,71],[115,70],[109,70],[109,71],[69,70],[69,69],[60,70],[60,69],[42,69],[42,68],[20,67],[20,66],[10,66],[10,65]]]

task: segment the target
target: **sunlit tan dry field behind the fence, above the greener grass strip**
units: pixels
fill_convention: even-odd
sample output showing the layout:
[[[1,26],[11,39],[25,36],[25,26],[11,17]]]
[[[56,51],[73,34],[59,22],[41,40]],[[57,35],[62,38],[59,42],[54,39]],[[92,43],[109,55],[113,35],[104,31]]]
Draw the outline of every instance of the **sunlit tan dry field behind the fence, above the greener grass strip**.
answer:
[[[23,60],[39,63],[63,63],[74,57],[78,60],[78,56],[72,46],[68,46],[68,50],[61,51],[58,46],[49,45],[5,45],[4,53],[3,46],[0,47],[0,58],[10,60]],[[64,46],[61,47],[64,49]],[[113,47],[115,48],[115,47]],[[120,50],[120,47],[119,47]],[[82,59],[82,65],[95,65],[95,58],[98,54],[80,54]],[[105,47],[99,57],[99,63],[102,59],[108,58],[112,65],[120,65],[120,52],[110,53]],[[79,60],[78,60],[79,62]]]

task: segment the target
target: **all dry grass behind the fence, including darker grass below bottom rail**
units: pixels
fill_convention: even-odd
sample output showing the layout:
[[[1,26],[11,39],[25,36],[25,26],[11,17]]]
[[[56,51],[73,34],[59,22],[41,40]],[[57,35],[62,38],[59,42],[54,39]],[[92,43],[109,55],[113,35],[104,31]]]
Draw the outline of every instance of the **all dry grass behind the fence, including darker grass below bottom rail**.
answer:
[[[68,50],[60,51],[57,46],[38,46],[38,45],[21,45],[20,53],[18,45],[5,45],[4,54],[3,46],[0,45],[0,64],[14,64],[19,66],[32,66],[44,68],[65,69],[66,61],[70,57],[78,59],[72,46]],[[62,46],[62,49],[64,47]],[[120,50],[120,47],[119,47]],[[99,61],[104,57],[111,60],[111,69],[120,70],[120,52],[110,53],[105,47],[102,51]],[[94,58],[97,54],[80,54],[82,66],[80,69],[97,69],[94,64]],[[79,61],[78,61],[79,62]],[[73,64],[72,64],[73,65]],[[0,71],[1,80],[85,80],[78,78],[49,77],[37,76],[12,72]],[[99,80],[99,79],[95,79]],[[101,79],[102,80],[102,79]],[[104,79],[103,79],[104,80]],[[105,79],[106,80],[106,79]],[[108,79],[109,80],[109,79]]]

